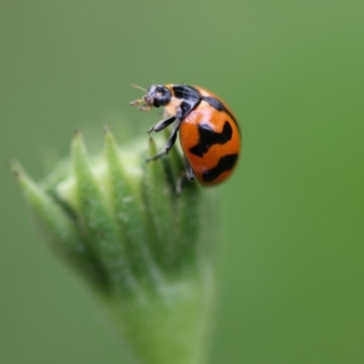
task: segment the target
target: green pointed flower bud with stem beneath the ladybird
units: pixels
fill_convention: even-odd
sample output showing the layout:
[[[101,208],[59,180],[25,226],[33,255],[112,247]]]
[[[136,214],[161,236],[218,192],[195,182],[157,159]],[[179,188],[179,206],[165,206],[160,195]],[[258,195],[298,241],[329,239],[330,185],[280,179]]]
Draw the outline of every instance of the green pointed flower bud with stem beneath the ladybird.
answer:
[[[56,253],[96,292],[140,363],[202,364],[214,301],[211,199],[185,182],[173,148],[154,139],[125,148],[106,129],[105,152],[89,158],[75,133],[71,158],[35,184],[12,164],[25,200]]]

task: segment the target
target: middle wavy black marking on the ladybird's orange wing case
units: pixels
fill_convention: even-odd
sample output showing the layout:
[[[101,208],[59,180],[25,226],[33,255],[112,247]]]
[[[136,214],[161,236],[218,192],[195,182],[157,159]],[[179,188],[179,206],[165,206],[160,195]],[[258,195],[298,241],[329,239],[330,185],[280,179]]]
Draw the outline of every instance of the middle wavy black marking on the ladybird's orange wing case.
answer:
[[[202,157],[215,144],[227,143],[233,135],[233,129],[228,121],[220,133],[216,132],[208,123],[198,124],[198,143],[188,150],[197,157]]]

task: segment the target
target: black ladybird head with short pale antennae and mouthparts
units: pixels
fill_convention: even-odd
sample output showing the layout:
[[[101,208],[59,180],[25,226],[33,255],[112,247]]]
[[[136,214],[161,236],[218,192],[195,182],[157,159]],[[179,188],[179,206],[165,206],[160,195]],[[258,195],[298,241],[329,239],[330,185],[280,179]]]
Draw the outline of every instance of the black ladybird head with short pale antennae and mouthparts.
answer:
[[[132,87],[140,88],[141,90],[146,92],[145,96],[130,103],[131,106],[143,104],[143,106],[139,106],[139,110],[148,111],[153,106],[166,106],[172,97],[172,94],[167,86],[152,85],[147,90],[136,85],[132,85]]]

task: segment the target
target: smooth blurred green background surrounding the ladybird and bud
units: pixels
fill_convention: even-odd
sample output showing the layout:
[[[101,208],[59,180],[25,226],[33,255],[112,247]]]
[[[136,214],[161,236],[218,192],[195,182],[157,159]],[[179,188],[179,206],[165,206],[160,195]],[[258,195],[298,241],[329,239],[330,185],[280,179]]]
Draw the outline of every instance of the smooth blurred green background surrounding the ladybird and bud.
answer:
[[[187,83],[223,96],[244,133],[216,188],[209,363],[363,363],[363,14],[362,1],[2,0],[0,362],[128,362],[6,161],[42,177],[75,128],[91,149],[105,124],[119,141],[147,130],[157,113],[128,106],[131,83]]]

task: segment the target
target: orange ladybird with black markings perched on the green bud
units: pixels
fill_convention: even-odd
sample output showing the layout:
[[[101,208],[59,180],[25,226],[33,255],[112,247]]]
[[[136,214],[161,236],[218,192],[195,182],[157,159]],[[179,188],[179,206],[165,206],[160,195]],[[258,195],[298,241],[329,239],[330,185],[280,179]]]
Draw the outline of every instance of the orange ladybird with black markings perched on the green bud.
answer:
[[[148,160],[168,154],[179,140],[186,159],[187,178],[197,177],[202,185],[211,186],[229,177],[237,164],[240,136],[237,120],[220,97],[199,86],[152,85],[147,89],[132,85],[146,94],[130,103],[149,111],[164,106],[167,118],[148,132],[158,132],[175,123],[165,150]]]

